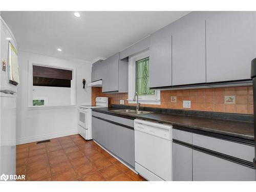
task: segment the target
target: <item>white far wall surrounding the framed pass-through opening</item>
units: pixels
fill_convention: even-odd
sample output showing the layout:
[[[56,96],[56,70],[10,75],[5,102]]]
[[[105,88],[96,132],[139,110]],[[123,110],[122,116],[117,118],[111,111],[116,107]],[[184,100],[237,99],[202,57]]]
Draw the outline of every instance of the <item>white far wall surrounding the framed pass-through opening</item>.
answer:
[[[76,68],[76,106],[51,109],[28,108],[28,61]],[[77,105],[91,104],[91,88],[82,89],[82,79],[91,79],[89,61],[66,60],[18,50],[20,84],[17,87],[17,144],[77,133]]]

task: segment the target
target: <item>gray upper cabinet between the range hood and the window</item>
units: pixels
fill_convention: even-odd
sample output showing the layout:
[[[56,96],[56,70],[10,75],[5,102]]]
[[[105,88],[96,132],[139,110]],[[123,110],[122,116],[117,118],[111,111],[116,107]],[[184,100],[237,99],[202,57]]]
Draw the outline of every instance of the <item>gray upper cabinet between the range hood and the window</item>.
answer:
[[[103,62],[102,92],[128,92],[128,62],[119,59],[119,53]]]

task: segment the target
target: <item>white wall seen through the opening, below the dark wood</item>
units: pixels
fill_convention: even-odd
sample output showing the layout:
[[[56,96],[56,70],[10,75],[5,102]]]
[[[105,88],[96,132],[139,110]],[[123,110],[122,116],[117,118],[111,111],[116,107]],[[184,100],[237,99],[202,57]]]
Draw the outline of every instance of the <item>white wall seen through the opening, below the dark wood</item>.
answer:
[[[34,98],[46,98],[48,106],[71,105],[71,88],[33,86]]]

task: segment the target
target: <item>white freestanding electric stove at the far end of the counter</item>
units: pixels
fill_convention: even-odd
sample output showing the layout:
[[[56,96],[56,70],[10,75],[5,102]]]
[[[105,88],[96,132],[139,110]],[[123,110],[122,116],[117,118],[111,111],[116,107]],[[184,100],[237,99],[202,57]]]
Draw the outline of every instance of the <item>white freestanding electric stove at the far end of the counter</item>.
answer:
[[[78,134],[84,139],[92,139],[92,108],[108,108],[108,97],[96,97],[96,105],[78,106]]]

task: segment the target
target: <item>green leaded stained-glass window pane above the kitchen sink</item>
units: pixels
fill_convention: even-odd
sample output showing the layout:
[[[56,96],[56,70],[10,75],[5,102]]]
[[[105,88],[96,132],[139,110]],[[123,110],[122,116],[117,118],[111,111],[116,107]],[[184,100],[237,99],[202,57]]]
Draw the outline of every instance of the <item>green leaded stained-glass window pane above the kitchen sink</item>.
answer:
[[[136,61],[136,91],[138,95],[154,95],[155,90],[148,87],[150,69],[150,57]]]

